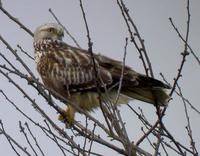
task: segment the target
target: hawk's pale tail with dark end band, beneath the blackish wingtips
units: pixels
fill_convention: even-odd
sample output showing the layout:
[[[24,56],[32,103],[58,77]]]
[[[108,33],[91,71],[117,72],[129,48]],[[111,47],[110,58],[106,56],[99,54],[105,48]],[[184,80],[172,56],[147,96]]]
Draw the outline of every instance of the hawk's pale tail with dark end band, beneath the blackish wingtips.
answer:
[[[159,106],[166,106],[169,100],[169,96],[161,88],[133,88],[123,91],[122,94],[147,103],[158,104]]]

